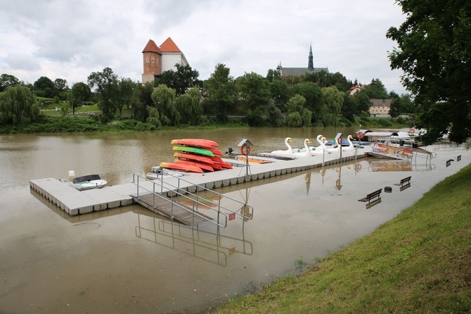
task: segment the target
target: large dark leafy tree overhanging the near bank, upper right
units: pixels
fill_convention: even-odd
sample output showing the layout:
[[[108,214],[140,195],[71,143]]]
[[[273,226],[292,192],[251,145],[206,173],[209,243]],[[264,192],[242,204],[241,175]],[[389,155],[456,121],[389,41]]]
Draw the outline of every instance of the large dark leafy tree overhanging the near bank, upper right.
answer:
[[[469,0],[396,0],[406,21],[386,37],[398,46],[391,68],[404,70],[402,82],[415,96],[417,127],[431,144],[450,131],[463,143],[471,137],[471,3]]]

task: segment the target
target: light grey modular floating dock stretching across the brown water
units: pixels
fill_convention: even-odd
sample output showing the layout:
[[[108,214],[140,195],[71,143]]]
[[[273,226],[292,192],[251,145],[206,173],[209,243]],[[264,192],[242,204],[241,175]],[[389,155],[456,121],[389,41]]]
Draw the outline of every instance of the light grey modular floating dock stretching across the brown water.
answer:
[[[325,156],[312,156],[306,158],[297,158],[295,160],[283,161],[259,156],[250,156],[260,161],[270,161],[269,163],[249,163],[247,168],[246,161],[238,161],[236,159],[224,158],[224,162],[230,163],[233,169],[226,169],[217,172],[188,173],[180,180],[181,177],[165,177],[164,181],[180,190],[194,193],[200,188],[218,189],[230,185],[250,182],[254,180],[263,180],[268,177],[276,177],[292,172],[319,168],[325,165],[333,165],[336,163],[344,163],[354,161],[358,158],[365,158],[368,155],[365,150],[359,150],[361,153],[356,154],[355,151],[342,152],[343,157],[337,158],[334,154],[326,153]],[[245,156],[240,156],[245,158]],[[323,159],[324,158],[324,159]],[[153,167],[153,171],[157,171],[157,166]],[[136,177],[138,175],[135,175]],[[138,184],[131,182],[127,184],[117,184],[101,189],[90,189],[86,191],[78,191],[65,182],[49,177],[46,179],[31,180],[30,189],[37,191],[38,194],[54,203],[65,213],[73,215],[82,215],[93,211],[104,211],[110,208],[127,206],[133,203],[138,187],[144,187],[149,191],[155,189],[153,180],[146,180],[140,177]],[[171,189],[162,190],[160,193],[172,196]],[[178,218],[176,218],[178,220]]]

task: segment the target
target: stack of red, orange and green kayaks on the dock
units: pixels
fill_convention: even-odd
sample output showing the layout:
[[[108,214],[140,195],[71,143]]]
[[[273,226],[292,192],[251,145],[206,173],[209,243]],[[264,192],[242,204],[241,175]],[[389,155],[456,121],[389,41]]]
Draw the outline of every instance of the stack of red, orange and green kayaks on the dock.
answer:
[[[197,173],[232,169],[221,159],[223,153],[217,149],[217,142],[209,139],[172,139],[171,144],[174,145],[174,162],[160,163],[162,168]]]

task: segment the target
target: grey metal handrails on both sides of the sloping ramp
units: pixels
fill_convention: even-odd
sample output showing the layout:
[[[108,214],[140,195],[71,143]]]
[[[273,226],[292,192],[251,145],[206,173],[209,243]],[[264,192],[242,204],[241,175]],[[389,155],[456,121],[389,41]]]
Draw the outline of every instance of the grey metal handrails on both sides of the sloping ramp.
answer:
[[[196,215],[202,218],[203,220],[212,222],[215,225],[218,225],[219,227],[223,227],[223,228],[227,226],[228,215],[229,215],[229,220],[232,220],[236,216],[242,217],[244,221],[251,220],[253,218],[253,208],[247,203],[243,203],[241,201],[237,201],[236,199],[231,199],[228,196],[224,196],[225,200],[236,203],[236,206],[238,206],[238,209],[232,210],[221,204],[222,194],[219,194],[216,191],[207,189],[206,187],[202,187],[200,185],[196,185],[195,193],[191,193],[190,191],[187,191],[188,186],[185,188],[182,188],[181,186],[183,184],[181,183],[186,182],[187,184],[190,184],[190,186],[194,186],[195,184],[187,180],[183,180],[181,177],[176,177],[174,175],[167,174],[167,179],[169,179],[170,177],[173,177],[177,180],[176,185],[168,182],[169,180],[164,180],[163,175],[160,175],[160,177],[157,176],[157,180],[149,180],[146,177],[134,174],[133,183],[137,187],[136,198],[139,199],[139,194],[140,194],[139,189],[143,189],[144,191],[146,191],[147,193],[145,194],[153,194],[153,204],[152,204],[153,208],[155,208],[155,196],[160,197],[162,199],[170,198],[170,201],[172,202],[172,213],[170,215],[172,220],[174,219],[173,206],[178,206],[179,208],[185,211],[191,212],[192,215]],[[144,180],[145,182],[150,182],[152,184],[152,189],[143,187],[143,185],[140,184],[139,182],[140,180]],[[215,194],[217,196],[217,202],[214,202],[209,199],[205,199],[205,197],[200,196],[199,194],[201,191],[209,191],[212,194]],[[167,194],[167,196],[165,196],[164,194]],[[183,206],[181,204],[182,201],[190,201],[192,205]],[[209,209],[210,211],[215,213],[217,215],[217,221],[208,219],[206,215],[200,215],[198,213],[198,208]]]

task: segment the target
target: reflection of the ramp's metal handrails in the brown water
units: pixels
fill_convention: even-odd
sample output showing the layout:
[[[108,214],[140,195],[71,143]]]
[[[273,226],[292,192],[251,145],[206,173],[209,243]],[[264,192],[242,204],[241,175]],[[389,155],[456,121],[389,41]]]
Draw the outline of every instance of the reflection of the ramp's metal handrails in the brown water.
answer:
[[[139,239],[146,239],[219,266],[226,267],[228,256],[233,253],[253,253],[252,243],[245,240],[243,228],[240,239],[237,239],[221,235],[219,227],[217,232],[207,232],[200,230],[198,225],[188,227],[179,222],[139,213],[137,221],[136,237]]]

